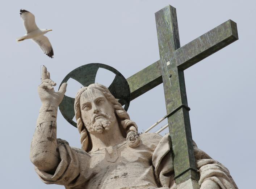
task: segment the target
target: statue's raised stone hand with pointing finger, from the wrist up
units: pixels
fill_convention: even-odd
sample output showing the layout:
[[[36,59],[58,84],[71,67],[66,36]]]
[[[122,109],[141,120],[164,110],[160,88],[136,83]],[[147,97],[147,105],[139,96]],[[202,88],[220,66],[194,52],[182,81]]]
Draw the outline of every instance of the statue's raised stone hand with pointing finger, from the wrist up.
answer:
[[[56,83],[50,78],[50,73],[45,66],[42,67],[42,83],[38,87],[38,94],[42,101],[42,106],[58,107],[66,92],[67,83],[60,86],[58,92],[54,91]]]

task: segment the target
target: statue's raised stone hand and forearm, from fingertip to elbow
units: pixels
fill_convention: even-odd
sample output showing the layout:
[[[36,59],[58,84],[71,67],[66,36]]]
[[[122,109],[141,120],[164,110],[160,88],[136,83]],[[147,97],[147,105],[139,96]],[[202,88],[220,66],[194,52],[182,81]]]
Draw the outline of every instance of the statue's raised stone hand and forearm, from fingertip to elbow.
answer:
[[[51,172],[59,164],[60,155],[57,148],[57,111],[58,105],[64,97],[67,83],[60,86],[58,92],[54,91],[56,83],[50,78],[46,67],[42,67],[42,83],[38,87],[38,94],[42,101],[37,118],[37,127],[30,148],[31,162],[42,171]]]

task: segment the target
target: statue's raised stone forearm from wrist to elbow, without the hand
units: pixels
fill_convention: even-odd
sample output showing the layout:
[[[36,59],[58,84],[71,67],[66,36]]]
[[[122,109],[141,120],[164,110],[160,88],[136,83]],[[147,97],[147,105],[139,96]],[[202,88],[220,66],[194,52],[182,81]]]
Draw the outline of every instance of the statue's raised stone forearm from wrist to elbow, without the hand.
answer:
[[[40,109],[30,148],[30,160],[42,171],[54,171],[59,163],[56,141],[58,106],[43,105]]]

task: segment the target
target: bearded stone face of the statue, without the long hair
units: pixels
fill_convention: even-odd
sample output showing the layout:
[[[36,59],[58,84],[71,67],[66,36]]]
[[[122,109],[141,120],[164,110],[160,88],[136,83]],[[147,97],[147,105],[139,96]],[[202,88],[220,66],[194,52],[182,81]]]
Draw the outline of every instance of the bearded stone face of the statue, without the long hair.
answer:
[[[90,133],[102,133],[116,122],[112,104],[98,89],[87,89],[80,97],[81,116]]]

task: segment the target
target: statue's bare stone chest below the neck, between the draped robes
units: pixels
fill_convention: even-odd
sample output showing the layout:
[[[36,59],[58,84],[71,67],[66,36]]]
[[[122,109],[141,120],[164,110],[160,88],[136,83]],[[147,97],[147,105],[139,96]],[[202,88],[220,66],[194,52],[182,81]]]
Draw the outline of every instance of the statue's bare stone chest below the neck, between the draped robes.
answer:
[[[130,148],[126,142],[94,151],[90,154],[94,176],[88,184],[95,188],[157,188],[152,153],[144,145]]]

